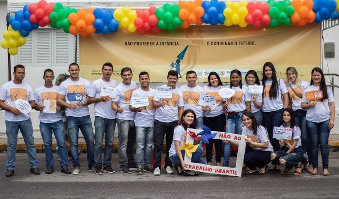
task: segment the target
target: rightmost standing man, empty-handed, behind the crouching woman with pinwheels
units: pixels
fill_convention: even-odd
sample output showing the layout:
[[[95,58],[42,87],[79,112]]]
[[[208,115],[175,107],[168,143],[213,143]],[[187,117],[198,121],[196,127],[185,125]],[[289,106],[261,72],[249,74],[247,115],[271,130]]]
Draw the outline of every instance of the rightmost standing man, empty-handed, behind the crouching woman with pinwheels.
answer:
[[[200,95],[204,95],[205,91],[201,86],[197,85],[197,73],[188,71],[186,73],[187,85],[180,87],[184,96],[184,110],[192,109],[197,115],[197,129],[202,128],[202,107],[199,105]]]

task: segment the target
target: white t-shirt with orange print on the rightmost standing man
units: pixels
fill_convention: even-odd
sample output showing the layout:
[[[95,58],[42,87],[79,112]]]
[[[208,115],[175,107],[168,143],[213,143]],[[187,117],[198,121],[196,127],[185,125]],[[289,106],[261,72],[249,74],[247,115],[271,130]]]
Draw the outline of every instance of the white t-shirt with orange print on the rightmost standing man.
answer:
[[[184,96],[184,110],[192,109],[197,117],[202,117],[202,107],[199,105],[199,97],[205,94],[204,89],[199,85],[193,88],[184,85],[180,87],[180,90]]]

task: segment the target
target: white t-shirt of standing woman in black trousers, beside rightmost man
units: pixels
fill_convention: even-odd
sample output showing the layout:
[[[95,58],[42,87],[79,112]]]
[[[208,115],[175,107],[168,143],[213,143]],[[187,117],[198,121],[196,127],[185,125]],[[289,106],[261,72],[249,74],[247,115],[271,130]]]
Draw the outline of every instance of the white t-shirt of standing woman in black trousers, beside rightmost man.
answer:
[[[215,117],[220,114],[225,113],[225,110],[222,108],[222,102],[226,101],[225,98],[220,97],[218,91],[221,88],[224,88],[223,86],[218,86],[218,87],[209,87],[209,86],[204,86],[202,87],[205,90],[206,95],[213,95],[216,99],[216,104],[214,106],[211,106],[211,112],[207,113],[206,111],[203,111],[203,115],[205,117]]]

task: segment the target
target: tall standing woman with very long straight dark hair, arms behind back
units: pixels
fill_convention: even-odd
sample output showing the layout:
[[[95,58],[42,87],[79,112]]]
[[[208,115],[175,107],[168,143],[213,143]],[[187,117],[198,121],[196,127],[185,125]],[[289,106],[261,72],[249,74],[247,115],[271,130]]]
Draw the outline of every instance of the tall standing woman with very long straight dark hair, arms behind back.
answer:
[[[266,126],[270,143],[274,151],[280,146],[277,139],[273,138],[273,127],[281,126],[281,115],[288,106],[288,92],[284,80],[277,78],[276,70],[271,62],[266,62],[262,68],[262,106],[263,124]],[[282,97],[284,101],[282,101]],[[280,171],[279,165],[272,165],[268,171]]]

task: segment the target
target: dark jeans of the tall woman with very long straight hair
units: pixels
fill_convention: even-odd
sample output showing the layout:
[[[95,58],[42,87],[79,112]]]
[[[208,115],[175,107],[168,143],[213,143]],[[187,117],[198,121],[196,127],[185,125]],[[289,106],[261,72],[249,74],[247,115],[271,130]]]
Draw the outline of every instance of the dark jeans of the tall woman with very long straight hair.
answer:
[[[279,146],[279,141],[273,138],[273,127],[281,126],[281,116],[282,116],[283,110],[284,109],[282,108],[276,111],[262,112],[264,124],[266,125],[266,129],[268,132],[268,138],[270,138],[270,143],[273,146],[274,151],[278,151],[280,146]]]

